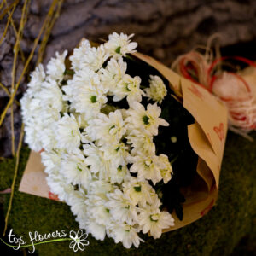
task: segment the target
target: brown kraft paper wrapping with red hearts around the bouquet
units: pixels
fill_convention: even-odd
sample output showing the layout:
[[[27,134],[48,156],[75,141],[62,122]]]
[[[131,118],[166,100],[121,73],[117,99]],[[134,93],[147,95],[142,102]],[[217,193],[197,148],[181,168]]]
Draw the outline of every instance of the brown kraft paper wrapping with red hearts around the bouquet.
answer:
[[[137,58],[157,69],[170,83],[175,98],[183,103],[195,118],[195,124],[188,126],[189,142],[198,155],[198,177],[191,188],[184,189],[183,220],[180,221],[172,212],[175,226],[165,230],[177,230],[205,215],[218,198],[218,180],[224,154],[227,132],[227,110],[207,90],[193,82],[183,79],[170,68],[140,53]],[[46,174],[40,161],[40,154],[32,152],[23,174],[20,191],[32,195],[58,200],[50,193],[45,182]]]

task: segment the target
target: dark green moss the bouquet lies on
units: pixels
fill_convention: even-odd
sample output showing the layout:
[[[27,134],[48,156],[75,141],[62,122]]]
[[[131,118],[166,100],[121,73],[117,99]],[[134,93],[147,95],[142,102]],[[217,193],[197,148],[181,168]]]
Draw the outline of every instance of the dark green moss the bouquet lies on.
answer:
[[[254,141],[256,134],[253,133]],[[27,237],[28,231],[44,234],[55,230],[78,230],[69,207],[18,191],[20,177],[26,166],[28,148],[22,148],[15,197],[9,216],[9,229],[16,236]],[[15,160],[0,162],[0,189],[10,186]],[[256,222],[256,143],[228,134],[220,177],[218,203],[206,216],[180,230],[162,234],[160,239],[143,236],[145,242],[138,249],[125,249],[112,239],[96,241],[88,237],[90,245],[75,255],[239,255],[234,248],[247,237],[255,238]],[[5,197],[5,210],[9,195]],[[40,256],[74,255],[69,241],[43,244],[36,247]],[[238,252],[237,252],[238,253]],[[244,255],[244,254],[241,254]]]

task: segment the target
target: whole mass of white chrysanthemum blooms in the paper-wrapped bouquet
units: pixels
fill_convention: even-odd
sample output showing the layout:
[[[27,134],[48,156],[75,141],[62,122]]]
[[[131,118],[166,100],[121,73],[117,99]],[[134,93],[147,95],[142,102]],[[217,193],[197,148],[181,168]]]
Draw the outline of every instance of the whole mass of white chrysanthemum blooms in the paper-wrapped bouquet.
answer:
[[[157,105],[166,87],[150,76],[142,90],[140,77],[126,73],[124,56],[137,47],[131,36],[114,32],[97,48],[83,40],[69,57],[71,70],[67,51],[57,53],[46,72],[39,65],[32,73],[21,100],[26,143],[44,148],[51,192],[71,206],[81,229],[127,248],[139,246],[138,232],[159,238],[174,224],[150,185],[172,177],[168,157],[156,155],[153,142],[159,126],[168,125]],[[144,108],[143,96],[155,103]],[[129,108],[113,107],[109,97]]]

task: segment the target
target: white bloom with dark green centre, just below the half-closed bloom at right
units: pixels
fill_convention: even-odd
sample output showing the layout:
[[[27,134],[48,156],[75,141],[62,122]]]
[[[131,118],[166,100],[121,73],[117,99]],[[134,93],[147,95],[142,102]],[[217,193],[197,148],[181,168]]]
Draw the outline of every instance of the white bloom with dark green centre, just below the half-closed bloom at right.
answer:
[[[127,110],[128,117],[125,119],[129,129],[142,130],[148,132],[148,135],[157,135],[159,125],[168,126],[165,119],[161,119],[161,108],[154,103],[148,104],[147,110],[139,102],[134,102]]]

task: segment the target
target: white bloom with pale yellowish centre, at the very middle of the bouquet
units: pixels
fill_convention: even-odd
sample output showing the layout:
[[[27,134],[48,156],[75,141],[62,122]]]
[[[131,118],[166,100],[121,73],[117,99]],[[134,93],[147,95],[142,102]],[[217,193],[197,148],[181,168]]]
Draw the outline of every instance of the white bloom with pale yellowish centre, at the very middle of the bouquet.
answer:
[[[85,131],[88,136],[97,141],[97,145],[119,143],[125,134],[125,122],[120,110],[108,114],[99,113],[95,119],[89,120]]]

